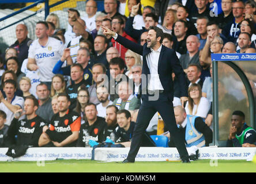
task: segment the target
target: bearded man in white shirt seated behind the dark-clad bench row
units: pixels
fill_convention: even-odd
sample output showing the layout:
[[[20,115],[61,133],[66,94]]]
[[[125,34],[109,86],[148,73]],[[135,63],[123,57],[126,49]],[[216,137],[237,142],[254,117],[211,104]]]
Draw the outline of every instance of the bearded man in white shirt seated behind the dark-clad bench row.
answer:
[[[100,104],[96,106],[98,116],[100,117],[106,117],[106,109],[108,105],[112,105],[112,101],[110,101],[108,94],[108,89],[106,86],[99,86],[97,87],[97,98],[100,101]]]

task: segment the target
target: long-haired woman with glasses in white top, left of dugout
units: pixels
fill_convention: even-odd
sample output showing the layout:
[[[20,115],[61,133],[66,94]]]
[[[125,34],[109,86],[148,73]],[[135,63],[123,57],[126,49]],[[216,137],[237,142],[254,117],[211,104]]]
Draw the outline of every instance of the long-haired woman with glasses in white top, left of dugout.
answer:
[[[210,102],[207,98],[202,97],[201,86],[193,83],[189,87],[189,101],[185,106],[186,113],[189,115],[206,118],[210,109]]]

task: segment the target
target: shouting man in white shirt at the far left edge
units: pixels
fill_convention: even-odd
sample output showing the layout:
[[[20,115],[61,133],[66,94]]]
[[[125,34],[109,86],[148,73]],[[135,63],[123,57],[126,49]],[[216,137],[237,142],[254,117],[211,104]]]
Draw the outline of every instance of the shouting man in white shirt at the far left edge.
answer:
[[[22,97],[18,97],[14,95],[14,92],[17,89],[16,81],[12,79],[8,79],[3,83],[3,91],[5,91],[6,98],[3,97],[3,94],[0,91],[0,110],[6,113],[6,125],[11,124],[14,113],[18,109],[22,109],[24,107],[24,99]],[[21,118],[23,118],[22,116]]]

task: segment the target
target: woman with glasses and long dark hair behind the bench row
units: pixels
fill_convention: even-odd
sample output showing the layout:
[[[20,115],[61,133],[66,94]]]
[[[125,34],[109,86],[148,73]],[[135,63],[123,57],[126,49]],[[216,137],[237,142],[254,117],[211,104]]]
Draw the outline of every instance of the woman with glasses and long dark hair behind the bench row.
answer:
[[[74,109],[76,112],[81,114],[81,124],[86,121],[85,117],[85,105],[89,102],[89,92],[85,85],[81,85],[77,90],[77,106]]]

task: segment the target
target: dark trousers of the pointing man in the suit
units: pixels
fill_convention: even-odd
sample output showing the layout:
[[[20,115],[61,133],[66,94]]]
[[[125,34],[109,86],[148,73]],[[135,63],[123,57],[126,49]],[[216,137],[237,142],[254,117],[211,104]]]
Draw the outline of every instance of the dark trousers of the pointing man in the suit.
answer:
[[[184,137],[179,131],[174,116],[174,107],[171,101],[147,101],[144,100],[139,109],[136,125],[134,127],[133,137],[131,139],[131,147],[127,159],[130,162],[134,162],[135,156],[140,149],[140,141],[143,132],[149,125],[149,121],[152,119],[154,114],[159,112],[165,125],[168,128],[174,139],[175,146],[179,152],[180,159],[189,159],[189,154],[185,146]]]

